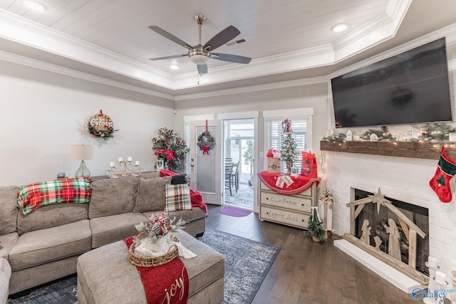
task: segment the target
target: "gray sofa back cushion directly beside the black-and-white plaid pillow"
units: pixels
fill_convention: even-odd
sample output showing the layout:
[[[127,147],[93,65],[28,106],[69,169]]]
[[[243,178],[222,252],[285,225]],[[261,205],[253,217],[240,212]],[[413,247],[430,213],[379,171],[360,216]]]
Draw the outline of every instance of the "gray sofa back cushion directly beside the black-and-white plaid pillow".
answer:
[[[165,208],[165,190],[163,186],[171,183],[172,177],[154,177],[138,179],[138,196],[135,212],[163,211]]]

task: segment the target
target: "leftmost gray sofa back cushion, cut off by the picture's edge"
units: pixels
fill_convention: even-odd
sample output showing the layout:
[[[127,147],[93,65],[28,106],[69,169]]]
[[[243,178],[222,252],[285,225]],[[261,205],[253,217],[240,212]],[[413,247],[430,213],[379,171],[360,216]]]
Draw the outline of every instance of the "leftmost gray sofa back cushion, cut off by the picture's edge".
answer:
[[[0,187],[0,236],[16,232],[17,192],[19,187]]]

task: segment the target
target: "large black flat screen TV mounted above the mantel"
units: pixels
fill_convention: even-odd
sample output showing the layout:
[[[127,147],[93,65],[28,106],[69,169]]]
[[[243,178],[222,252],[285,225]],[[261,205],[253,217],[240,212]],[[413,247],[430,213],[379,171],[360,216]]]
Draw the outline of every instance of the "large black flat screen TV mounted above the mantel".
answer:
[[[452,121],[445,38],[331,79],[336,127]]]

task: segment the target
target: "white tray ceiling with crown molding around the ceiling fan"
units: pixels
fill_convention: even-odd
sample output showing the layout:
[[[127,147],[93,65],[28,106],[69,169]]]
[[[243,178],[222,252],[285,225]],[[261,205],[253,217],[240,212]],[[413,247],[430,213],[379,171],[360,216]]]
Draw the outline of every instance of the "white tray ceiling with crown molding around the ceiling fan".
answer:
[[[423,1],[423,0],[422,0]],[[437,2],[442,1],[438,0]],[[447,1],[445,1],[447,2]],[[170,95],[299,79],[325,70],[393,38],[411,0],[41,0],[31,11],[21,0],[0,0],[0,50]],[[151,31],[160,28],[196,45],[195,14],[204,14],[202,42],[229,25],[247,42],[217,48],[248,56],[248,65],[211,59],[198,75],[187,53]],[[348,30],[334,33],[336,23]],[[11,56],[10,56],[11,57]],[[0,57],[1,58],[1,57]],[[179,65],[178,70],[170,64]],[[324,74],[323,74],[324,75]]]

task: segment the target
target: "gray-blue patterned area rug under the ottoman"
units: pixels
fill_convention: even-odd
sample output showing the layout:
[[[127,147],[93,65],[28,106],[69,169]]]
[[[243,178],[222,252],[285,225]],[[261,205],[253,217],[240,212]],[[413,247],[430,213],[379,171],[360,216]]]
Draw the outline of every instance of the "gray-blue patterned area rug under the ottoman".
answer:
[[[280,248],[207,229],[199,241],[225,257],[224,304],[252,303]],[[16,293],[8,304],[78,303],[76,275]]]

